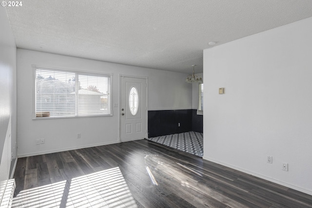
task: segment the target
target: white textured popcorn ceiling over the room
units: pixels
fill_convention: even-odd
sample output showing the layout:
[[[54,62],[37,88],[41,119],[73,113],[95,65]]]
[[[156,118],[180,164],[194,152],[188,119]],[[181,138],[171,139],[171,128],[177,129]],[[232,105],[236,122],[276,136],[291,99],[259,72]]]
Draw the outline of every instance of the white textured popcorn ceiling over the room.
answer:
[[[312,0],[22,0],[18,48],[202,72],[203,49],[312,17]]]

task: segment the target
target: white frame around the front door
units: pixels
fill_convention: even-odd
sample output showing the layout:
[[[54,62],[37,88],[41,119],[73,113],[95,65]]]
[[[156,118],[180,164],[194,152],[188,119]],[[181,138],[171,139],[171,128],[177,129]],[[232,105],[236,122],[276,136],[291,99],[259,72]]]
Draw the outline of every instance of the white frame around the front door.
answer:
[[[140,78],[140,79],[145,79],[146,81],[146,90],[145,90],[145,103],[146,103],[146,109],[145,109],[145,138],[148,138],[148,127],[147,127],[147,119],[148,119],[148,76],[132,76],[132,75],[123,75],[123,74],[119,74],[119,98],[118,98],[118,142],[121,143],[121,110],[120,110],[120,106],[121,106],[121,77],[130,77],[130,78]]]

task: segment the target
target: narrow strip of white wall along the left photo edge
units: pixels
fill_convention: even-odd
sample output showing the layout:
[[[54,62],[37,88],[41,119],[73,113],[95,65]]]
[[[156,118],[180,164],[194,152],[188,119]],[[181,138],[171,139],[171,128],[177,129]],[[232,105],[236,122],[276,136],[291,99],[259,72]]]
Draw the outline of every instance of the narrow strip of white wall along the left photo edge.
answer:
[[[0,8],[0,201],[16,158],[16,45],[4,7]],[[12,145],[14,147],[12,148]]]

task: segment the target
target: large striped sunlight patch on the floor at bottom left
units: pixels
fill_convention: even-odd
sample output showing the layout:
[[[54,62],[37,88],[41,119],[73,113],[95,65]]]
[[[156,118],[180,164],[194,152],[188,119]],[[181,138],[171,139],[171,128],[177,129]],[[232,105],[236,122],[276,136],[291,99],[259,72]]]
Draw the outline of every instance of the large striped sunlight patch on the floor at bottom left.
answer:
[[[12,207],[20,208],[137,208],[118,167],[22,190]]]

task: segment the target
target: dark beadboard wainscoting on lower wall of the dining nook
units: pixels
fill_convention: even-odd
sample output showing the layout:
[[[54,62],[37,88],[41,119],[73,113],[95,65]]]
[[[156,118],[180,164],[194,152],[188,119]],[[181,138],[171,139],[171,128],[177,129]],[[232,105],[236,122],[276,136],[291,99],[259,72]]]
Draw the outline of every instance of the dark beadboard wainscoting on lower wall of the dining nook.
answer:
[[[196,109],[148,111],[148,137],[191,131],[202,133],[203,116],[196,112]]]

